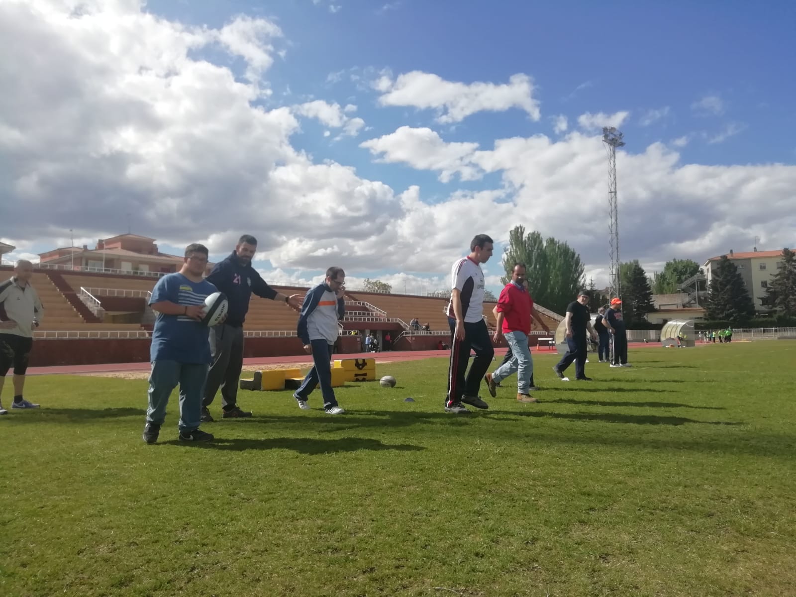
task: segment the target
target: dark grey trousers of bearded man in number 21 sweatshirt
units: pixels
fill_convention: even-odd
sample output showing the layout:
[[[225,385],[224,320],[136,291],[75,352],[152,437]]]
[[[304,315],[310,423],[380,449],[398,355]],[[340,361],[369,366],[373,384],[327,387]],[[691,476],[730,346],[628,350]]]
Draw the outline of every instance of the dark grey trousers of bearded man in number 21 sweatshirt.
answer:
[[[210,352],[213,365],[207,375],[202,406],[212,404],[221,388],[221,407],[228,410],[238,400],[238,381],[244,366],[244,329],[226,324],[210,328]]]

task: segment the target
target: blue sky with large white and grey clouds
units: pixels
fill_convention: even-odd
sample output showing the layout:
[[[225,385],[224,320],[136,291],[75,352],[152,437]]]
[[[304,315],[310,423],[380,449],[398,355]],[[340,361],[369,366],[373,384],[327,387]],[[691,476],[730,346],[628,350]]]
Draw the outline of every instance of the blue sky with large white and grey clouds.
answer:
[[[0,240],[429,291],[524,224],[603,283],[613,125],[622,260],[794,246],[796,4],[668,4],[0,0]]]

